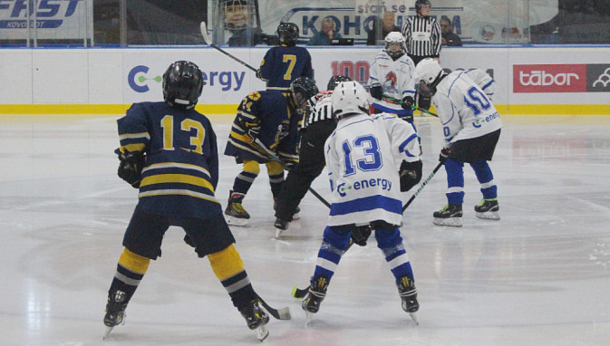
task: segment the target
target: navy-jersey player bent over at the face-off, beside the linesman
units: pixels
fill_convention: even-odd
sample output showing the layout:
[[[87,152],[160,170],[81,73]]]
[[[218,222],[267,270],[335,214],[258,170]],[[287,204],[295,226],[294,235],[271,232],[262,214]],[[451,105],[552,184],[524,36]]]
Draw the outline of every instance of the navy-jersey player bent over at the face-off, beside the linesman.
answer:
[[[242,202],[260,173],[259,164],[266,165],[274,199],[279,196],[284,184],[284,167],[290,168],[298,161],[301,119],[296,102],[290,91],[254,91],[239,104],[225,149],[225,155],[235,157],[237,163],[243,164],[225,209],[229,225],[246,226],[248,223],[250,215]],[[271,159],[267,150],[282,162]]]

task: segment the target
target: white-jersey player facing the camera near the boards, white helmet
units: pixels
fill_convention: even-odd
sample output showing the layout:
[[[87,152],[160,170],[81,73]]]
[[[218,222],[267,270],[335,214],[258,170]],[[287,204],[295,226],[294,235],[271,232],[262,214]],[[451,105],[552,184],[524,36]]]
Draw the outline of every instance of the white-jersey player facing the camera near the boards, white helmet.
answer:
[[[374,113],[392,113],[413,122],[414,70],[415,64],[404,51],[404,36],[396,32],[385,36],[385,49],[377,54],[370,69]]]

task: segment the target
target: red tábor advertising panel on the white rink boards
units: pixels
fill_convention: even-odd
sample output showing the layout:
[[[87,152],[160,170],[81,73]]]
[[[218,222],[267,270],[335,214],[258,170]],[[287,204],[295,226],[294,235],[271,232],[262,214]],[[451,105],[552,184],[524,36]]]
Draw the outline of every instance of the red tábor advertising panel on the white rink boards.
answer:
[[[586,92],[586,64],[514,65],[514,92]]]

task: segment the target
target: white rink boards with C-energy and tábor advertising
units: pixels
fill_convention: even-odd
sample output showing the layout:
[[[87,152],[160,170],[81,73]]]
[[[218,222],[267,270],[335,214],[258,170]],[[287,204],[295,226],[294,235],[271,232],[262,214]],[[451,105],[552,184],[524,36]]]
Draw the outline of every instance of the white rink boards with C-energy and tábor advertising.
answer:
[[[257,68],[268,48],[227,48]],[[368,81],[380,48],[312,48],[315,79],[324,90],[334,73]],[[129,105],[162,98],[161,76],[170,62],[201,67],[206,86],[199,103],[237,105],[265,88],[255,73],[210,47],[131,49],[2,49],[2,105]],[[498,83],[499,105],[610,105],[610,47],[446,48],[441,65],[477,67]],[[15,109],[15,107],[13,108]],[[8,107],[5,107],[8,110]]]

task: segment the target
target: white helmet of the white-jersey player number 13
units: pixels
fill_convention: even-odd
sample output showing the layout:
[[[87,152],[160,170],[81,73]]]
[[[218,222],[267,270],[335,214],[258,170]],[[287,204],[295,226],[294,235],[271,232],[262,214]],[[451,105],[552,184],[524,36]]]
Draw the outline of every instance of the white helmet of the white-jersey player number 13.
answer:
[[[337,119],[343,119],[353,114],[369,114],[369,94],[359,82],[340,82],[334,87],[333,114]]]

